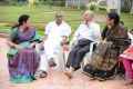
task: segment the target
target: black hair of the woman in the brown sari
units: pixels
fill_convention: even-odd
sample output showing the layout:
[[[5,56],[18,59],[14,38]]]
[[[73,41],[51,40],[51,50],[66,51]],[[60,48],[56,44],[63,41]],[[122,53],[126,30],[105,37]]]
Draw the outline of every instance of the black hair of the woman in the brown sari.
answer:
[[[112,20],[114,19],[114,24],[119,24],[120,23],[120,16],[116,12],[109,12],[108,17]]]

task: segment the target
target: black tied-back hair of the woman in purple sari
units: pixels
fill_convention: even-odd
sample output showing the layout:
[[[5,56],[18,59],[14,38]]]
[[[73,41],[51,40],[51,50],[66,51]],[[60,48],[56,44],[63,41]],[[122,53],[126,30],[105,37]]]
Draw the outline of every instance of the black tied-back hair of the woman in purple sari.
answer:
[[[30,18],[30,16],[28,16],[28,14],[22,14],[22,16],[20,16],[19,19],[18,19],[19,24],[13,26],[11,29],[14,29],[14,28],[23,24],[23,22],[27,22],[27,20],[28,20],[29,18]]]

